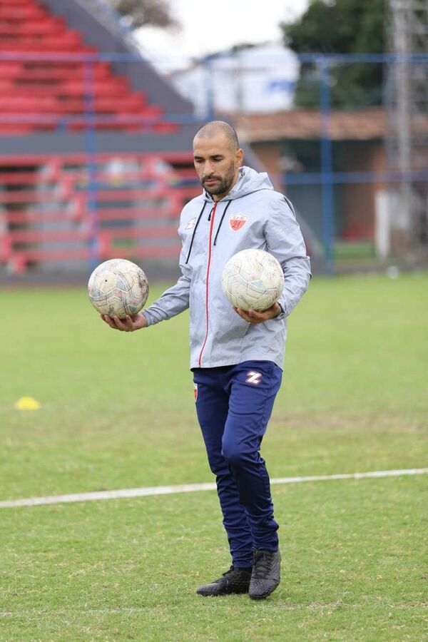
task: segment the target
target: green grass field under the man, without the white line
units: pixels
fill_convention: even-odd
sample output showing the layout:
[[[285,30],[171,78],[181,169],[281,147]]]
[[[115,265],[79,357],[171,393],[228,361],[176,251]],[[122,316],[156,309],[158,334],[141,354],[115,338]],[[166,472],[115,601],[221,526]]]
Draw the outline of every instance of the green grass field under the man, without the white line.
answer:
[[[153,300],[160,288],[153,287]],[[271,477],[428,465],[428,275],[313,280],[289,320]],[[4,290],[0,500],[213,481],[188,317],[113,332],[81,290]],[[41,409],[14,409],[30,395]],[[0,509],[0,640],[427,640],[428,476],[272,486],[282,584],[229,564],[214,491]]]

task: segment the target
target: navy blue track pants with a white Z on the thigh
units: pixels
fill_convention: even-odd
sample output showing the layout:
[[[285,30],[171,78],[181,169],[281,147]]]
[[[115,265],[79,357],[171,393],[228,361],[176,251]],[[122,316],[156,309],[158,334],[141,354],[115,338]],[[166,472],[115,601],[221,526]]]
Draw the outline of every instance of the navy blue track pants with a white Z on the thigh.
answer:
[[[281,378],[271,361],[193,369],[196,412],[237,568],[252,566],[253,549],[278,549],[270,481],[259,451]]]

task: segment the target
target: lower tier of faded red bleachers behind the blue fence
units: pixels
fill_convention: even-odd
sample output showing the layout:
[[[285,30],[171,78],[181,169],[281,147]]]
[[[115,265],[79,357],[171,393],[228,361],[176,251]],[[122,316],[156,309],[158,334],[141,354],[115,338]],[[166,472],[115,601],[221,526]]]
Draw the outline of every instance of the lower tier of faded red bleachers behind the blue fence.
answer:
[[[173,258],[177,217],[195,195],[177,155],[0,158],[0,263]],[[7,167],[4,165],[7,163]]]

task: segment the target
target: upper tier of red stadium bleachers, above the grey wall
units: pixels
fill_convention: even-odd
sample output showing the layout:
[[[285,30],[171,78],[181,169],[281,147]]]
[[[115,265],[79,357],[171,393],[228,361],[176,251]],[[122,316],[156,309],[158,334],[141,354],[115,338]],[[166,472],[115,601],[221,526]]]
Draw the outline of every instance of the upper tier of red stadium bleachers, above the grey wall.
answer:
[[[84,44],[81,34],[68,29],[66,21],[51,16],[36,0],[3,0],[0,6],[0,52],[13,54],[96,54]],[[88,73],[91,74],[88,80]],[[93,76],[93,77],[92,77]],[[150,105],[143,93],[132,91],[128,79],[118,77],[108,63],[96,61],[4,60],[0,63],[0,132],[23,133],[31,128],[54,130],[80,129],[82,120],[64,115],[91,113],[120,115],[121,120],[101,118],[99,129],[135,131],[141,123],[161,121],[160,106]],[[24,123],[12,123],[14,116],[33,116]],[[43,115],[44,118],[37,116]],[[128,118],[126,118],[128,116]],[[138,118],[140,117],[140,118]],[[30,126],[29,126],[30,125]],[[162,123],[163,131],[174,131],[173,123]]]

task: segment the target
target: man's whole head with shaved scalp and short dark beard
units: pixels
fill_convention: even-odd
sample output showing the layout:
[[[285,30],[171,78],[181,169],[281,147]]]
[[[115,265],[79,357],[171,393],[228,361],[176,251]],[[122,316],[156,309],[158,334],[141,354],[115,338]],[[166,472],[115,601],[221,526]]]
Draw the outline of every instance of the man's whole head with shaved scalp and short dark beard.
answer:
[[[238,180],[244,153],[236,132],[223,121],[211,121],[193,138],[193,163],[203,188],[214,200],[223,198]]]

